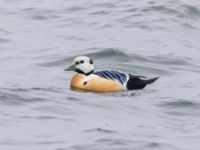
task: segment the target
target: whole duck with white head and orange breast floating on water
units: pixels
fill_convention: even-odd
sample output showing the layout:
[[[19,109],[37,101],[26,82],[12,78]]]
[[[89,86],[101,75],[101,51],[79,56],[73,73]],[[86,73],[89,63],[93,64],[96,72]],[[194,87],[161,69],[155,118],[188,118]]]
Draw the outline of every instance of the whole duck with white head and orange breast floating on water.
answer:
[[[94,70],[94,61],[88,56],[78,56],[65,71],[74,71],[71,88],[89,92],[119,92],[139,90],[155,82],[158,77],[147,79],[120,70]]]

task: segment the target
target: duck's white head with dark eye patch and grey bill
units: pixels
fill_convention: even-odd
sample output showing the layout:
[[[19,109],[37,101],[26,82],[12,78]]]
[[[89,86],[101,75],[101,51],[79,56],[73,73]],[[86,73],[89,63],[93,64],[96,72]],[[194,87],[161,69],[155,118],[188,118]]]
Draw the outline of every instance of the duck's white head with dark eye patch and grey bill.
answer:
[[[78,56],[74,59],[73,65],[69,66],[66,71],[75,71],[84,75],[94,72],[94,62],[87,56]]]

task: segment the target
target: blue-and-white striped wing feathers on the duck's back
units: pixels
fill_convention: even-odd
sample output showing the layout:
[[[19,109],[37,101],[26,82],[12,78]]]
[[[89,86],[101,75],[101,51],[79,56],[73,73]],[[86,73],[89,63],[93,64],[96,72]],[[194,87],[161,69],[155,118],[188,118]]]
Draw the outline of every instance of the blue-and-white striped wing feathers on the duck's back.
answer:
[[[102,78],[106,78],[108,80],[118,81],[119,83],[123,85],[126,84],[129,79],[128,74],[121,71],[115,71],[115,70],[102,70],[102,71],[95,72],[94,74]]]

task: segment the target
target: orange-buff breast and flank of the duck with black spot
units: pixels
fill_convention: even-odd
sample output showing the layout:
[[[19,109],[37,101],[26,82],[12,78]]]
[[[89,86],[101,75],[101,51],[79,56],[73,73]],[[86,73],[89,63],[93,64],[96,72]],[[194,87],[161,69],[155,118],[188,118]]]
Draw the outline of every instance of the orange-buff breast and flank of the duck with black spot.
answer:
[[[126,90],[126,87],[114,80],[108,80],[95,74],[85,76],[75,74],[71,80],[71,86],[93,92],[116,92]]]

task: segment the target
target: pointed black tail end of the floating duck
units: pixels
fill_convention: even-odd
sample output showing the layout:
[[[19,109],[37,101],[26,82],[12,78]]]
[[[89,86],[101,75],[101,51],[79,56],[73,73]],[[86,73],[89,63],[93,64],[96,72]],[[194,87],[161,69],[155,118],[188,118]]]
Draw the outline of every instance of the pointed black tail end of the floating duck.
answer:
[[[129,75],[129,80],[127,82],[127,89],[128,90],[136,90],[136,89],[143,89],[147,84],[151,84],[156,81],[159,77],[155,77],[152,79],[141,79],[139,76]]]

